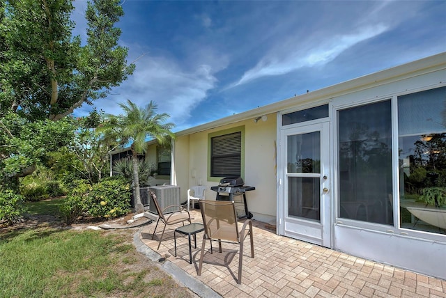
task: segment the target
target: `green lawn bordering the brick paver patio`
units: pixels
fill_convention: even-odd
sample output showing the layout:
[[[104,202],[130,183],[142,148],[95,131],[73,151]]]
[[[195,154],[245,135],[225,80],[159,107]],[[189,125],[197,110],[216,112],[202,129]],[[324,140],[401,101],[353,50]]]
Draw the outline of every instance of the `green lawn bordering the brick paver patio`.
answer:
[[[60,203],[26,208],[56,215]],[[0,230],[0,297],[190,297],[136,252],[134,232],[45,225]]]

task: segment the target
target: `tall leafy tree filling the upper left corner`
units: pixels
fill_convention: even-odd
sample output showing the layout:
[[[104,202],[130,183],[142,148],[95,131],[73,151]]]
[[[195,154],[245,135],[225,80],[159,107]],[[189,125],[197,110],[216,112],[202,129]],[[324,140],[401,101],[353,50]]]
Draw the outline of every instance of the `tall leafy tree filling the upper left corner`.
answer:
[[[72,36],[71,0],[1,0],[0,111],[59,120],[127,79],[134,65],[118,45],[118,2],[88,2],[82,45]]]

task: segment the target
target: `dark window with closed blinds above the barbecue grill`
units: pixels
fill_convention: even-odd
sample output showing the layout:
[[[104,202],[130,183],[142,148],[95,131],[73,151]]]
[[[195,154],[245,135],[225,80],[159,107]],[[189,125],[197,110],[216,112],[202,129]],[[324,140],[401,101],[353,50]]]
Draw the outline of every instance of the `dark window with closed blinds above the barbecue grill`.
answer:
[[[242,133],[234,132],[210,139],[210,175],[212,177],[240,176]]]

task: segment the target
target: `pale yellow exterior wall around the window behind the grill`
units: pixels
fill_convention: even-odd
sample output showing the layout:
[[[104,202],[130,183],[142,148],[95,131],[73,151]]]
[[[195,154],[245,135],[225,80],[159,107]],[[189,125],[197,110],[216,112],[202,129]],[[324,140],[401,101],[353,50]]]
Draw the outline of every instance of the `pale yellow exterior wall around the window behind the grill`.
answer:
[[[245,127],[245,185],[256,187],[247,192],[248,210],[254,219],[271,221],[276,217],[276,127],[275,113],[267,115],[266,121],[249,120],[223,125],[221,127],[178,136],[175,141],[176,185],[180,186],[182,202],[187,199],[187,189],[193,185],[206,186],[206,199],[215,199],[215,191],[210,187],[218,184],[218,179],[208,179],[208,134],[228,130],[232,127]]]

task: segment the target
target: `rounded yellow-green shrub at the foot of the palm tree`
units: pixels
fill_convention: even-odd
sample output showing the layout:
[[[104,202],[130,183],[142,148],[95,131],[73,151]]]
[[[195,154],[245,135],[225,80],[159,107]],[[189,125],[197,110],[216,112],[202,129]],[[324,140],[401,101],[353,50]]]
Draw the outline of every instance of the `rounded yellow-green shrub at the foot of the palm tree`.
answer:
[[[123,178],[105,178],[95,185],[78,180],[61,206],[68,224],[79,217],[114,218],[127,214],[130,207],[130,186]]]

